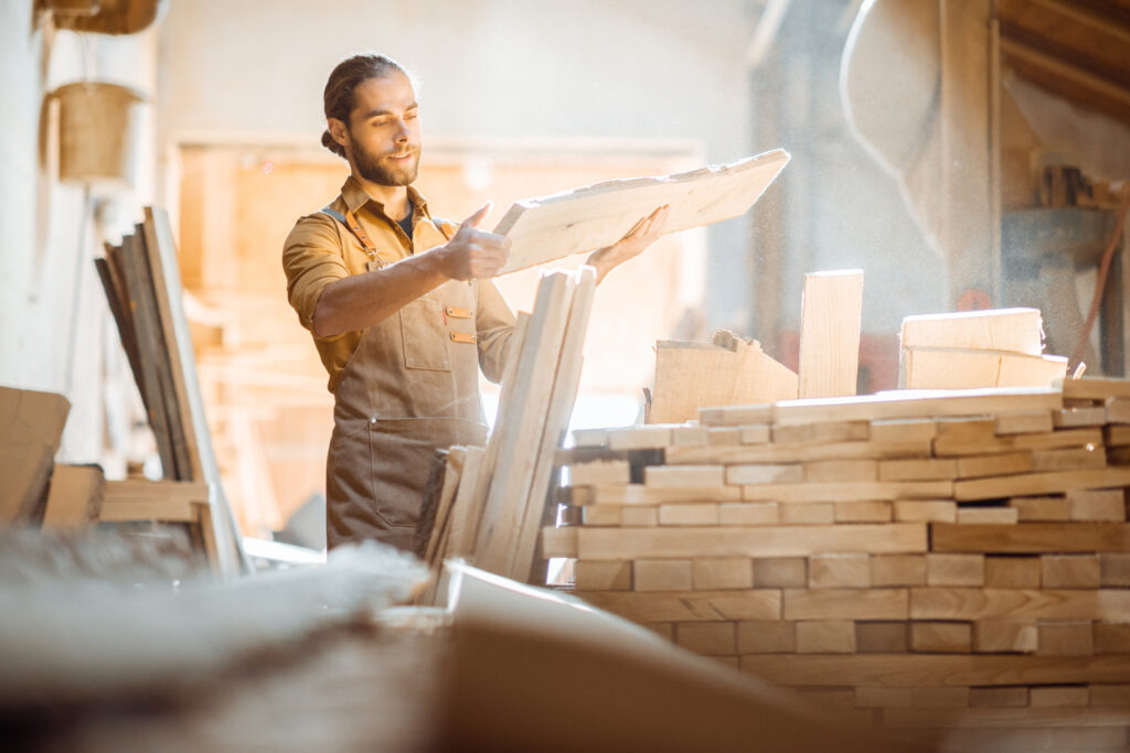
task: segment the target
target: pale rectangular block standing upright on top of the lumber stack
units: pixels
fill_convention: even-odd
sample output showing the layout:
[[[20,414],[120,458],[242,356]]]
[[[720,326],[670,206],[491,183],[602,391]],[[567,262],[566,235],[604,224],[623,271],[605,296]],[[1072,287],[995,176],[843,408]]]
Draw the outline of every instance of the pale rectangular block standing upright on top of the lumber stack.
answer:
[[[805,275],[799,397],[855,394],[862,310],[862,270]]]

